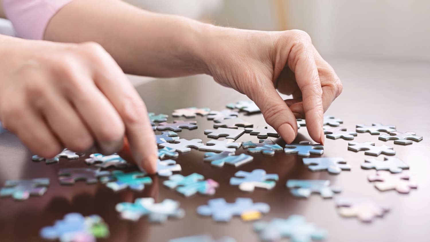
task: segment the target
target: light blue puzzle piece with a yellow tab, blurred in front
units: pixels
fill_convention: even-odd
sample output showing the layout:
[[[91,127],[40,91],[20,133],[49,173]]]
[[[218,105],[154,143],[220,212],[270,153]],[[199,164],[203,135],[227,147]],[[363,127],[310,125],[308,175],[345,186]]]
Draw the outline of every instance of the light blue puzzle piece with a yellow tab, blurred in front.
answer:
[[[208,205],[201,205],[197,213],[203,216],[211,216],[214,221],[227,222],[233,215],[248,217],[250,213],[268,213],[270,206],[264,202],[253,203],[250,198],[237,198],[234,203],[225,202],[224,198],[210,199]],[[255,216],[249,216],[255,218]],[[256,216],[259,218],[259,216]]]

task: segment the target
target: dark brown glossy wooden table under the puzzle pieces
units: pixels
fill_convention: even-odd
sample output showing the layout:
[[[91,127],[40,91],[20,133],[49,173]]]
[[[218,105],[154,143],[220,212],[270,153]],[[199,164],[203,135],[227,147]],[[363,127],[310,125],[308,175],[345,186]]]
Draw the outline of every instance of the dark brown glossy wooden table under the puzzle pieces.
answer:
[[[203,151],[192,150],[181,153],[177,162],[182,166],[182,175],[197,172],[218,181],[220,187],[213,197],[194,195],[185,198],[175,190],[163,187],[164,178],[154,177],[154,183],[141,193],[129,190],[114,193],[103,184],[87,185],[77,182],[74,186],[61,186],[57,172],[60,168],[86,167],[83,158],[74,161],[61,160],[57,164],[45,165],[32,162],[32,154],[11,133],[0,135],[0,184],[7,179],[29,179],[49,177],[51,184],[44,196],[31,197],[17,202],[12,198],[0,198],[0,241],[28,242],[43,241],[39,230],[52,225],[68,212],[80,212],[84,215],[99,214],[109,225],[111,236],[101,241],[140,241],[161,242],[180,236],[210,233],[215,238],[232,236],[237,241],[258,241],[258,234],[252,231],[251,222],[233,218],[229,223],[216,223],[210,217],[200,217],[196,213],[199,205],[208,199],[222,197],[233,202],[237,197],[250,197],[255,202],[267,202],[270,213],[263,217],[269,221],[273,217],[286,218],[291,214],[303,214],[317,227],[329,232],[326,241],[362,242],[362,241],[428,241],[430,236],[430,64],[402,63],[353,59],[329,59],[344,83],[344,92],[332,104],[327,114],[344,120],[348,129],[356,124],[381,122],[394,124],[399,131],[412,131],[424,136],[418,143],[402,146],[393,141],[379,141],[378,135],[358,134],[355,141],[373,141],[377,145],[387,144],[394,147],[396,156],[407,162],[410,172],[416,175],[418,189],[410,194],[401,195],[396,191],[379,192],[367,181],[367,175],[374,170],[362,170],[360,163],[366,157],[364,152],[355,153],[347,150],[348,141],[326,139],[325,157],[340,156],[352,166],[350,172],[329,175],[327,172],[310,172],[302,164],[301,158],[286,155],[283,152],[267,157],[254,155],[254,161],[239,168],[225,165],[214,168],[203,162]],[[196,76],[180,80],[159,80],[138,87],[148,110],[156,113],[171,114],[173,109],[181,107],[209,107],[221,110],[225,104],[244,99],[243,95],[219,86],[210,77]],[[255,125],[264,124],[261,114],[241,117]],[[169,117],[169,121],[172,118]],[[204,129],[212,128],[212,121],[206,117],[197,117],[199,128],[179,132],[181,138],[200,138],[203,142],[209,138]],[[157,132],[159,133],[159,132]],[[257,141],[256,136],[244,134],[238,141]],[[305,128],[299,130],[296,141],[309,140]],[[277,140],[280,145],[285,143]],[[240,148],[237,153],[245,153]],[[379,159],[382,159],[381,156]],[[279,181],[273,190],[255,190],[243,193],[231,187],[229,179],[238,170],[252,171],[263,168],[267,173],[279,175]],[[309,199],[296,199],[286,188],[288,179],[329,179],[336,186],[342,187],[336,196],[369,197],[375,202],[391,205],[391,211],[382,219],[377,218],[371,224],[359,222],[356,218],[343,218],[338,215],[333,199],[322,199],[313,195]],[[118,202],[134,201],[138,197],[153,197],[157,202],[166,198],[181,202],[186,215],[181,220],[170,220],[163,225],[150,224],[146,218],[138,222],[123,221],[119,218],[115,205]],[[285,240],[287,241],[287,240]]]

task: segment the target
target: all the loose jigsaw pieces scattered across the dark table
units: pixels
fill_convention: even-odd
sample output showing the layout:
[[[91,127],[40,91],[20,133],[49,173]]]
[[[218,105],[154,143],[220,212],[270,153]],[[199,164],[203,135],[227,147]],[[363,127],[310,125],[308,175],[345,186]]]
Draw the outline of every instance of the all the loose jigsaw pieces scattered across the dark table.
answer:
[[[174,174],[182,171],[181,165],[174,160],[180,153],[189,152],[192,148],[204,151],[202,162],[208,162],[215,167],[230,165],[234,168],[244,166],[252,162],[255,154],[262,154],[266,159],[271,158],[276,152],[286,155],[303,157],[303,165],[311,172],[329,172],[332,175],[350,171],[351,165],[342,157],[309,157],[322,156],[324,146],[321,144],[311,144],[310,141],[300,141],[294,144],[286,144],[281,147],[276,141],[269,138],[279,138],[279,134],[270,126],[249,123],[241,118],[240,112],[248,114],[259,113],[260,110],[252,101],[238,101],[227,104],[229,109],[220,111],[209,108],[188,107],[176,109],[172,116],[176,120],[169,123],[169,115],[149,113],[149,119],[154,130],[159,130],[155,135],[155,140],[160,146],[158,151],[157,175],[164,178],[162,184],[171,190],[175,190],[184,197],[191,197],[195,194],[212,196],[221,189],[220,184],[211,178],[205,178],[199,173],[189,175]],[[195,118],[197,115],[206,116],[212,120],[213,129],[203,131],[210,141],[203,144],[199,138],[184,139],[178,133],[182,129],[197,129],[197,122],[194,120],[180,120],[179,118]],[[349,131],[340,126],[343,120],[334,116],[324,116],[324,134],[327,138],[347,140],[349,143],[345,149],[354,152],[364,151],[365,155],[379,156],[384,154],[382,159],[369,158],[361,163],[362,169],[374,169],[374,173],[368,175],[368,181],[372,182],[376,189],[380,191],[396,190],[398,193],[409,193],[416,189],[418,184],[412,174],[404,170],[409,166],[400,158],[396,157],[393,147],[375,145],[375,142],[366,141],[359,143],[353,140],[358,134],[369,132],[371,135],[379,135],[381,141],[391,141],[394,144],[412,144],[419,142],[423,138],[415,135],[414,132],[399,132],[393,125],[383,125],[373,123],[371,126],[364,124],[356,125],[356,130]],[[298,128],[306,126],[306,120],[297,119]],[[243,127],[243,128],[239,128]],[[7,131],[6,131],[7,132]],[[198,131],[193,131],[198,132]],[[385,132],[386,134],[380,134]],[[256,135],[258,143],[236,140],[244,134]],[[197,136],[197,135],[196,135]],[[218,138],[224,137],[223,140]],[[240,147],[246,150],[245,153],[236,152]],[[209,152],[207,152],[209,151]],[[33,161],[44,161],[46,164],[59,163],[67,159],[74,162],[80,161],[85,154],[78,154],[71,150],[64,149],[60,154],[52,158],[33,156]],[[90,154],[81,167],[59,169],[58,182],[63,185],[74,185],[76,182],[84,181],[86,184],[105,184],[114,192],[121,190],[142,191],[145,186],[150,186],[153,182],[151,176],[144,170],[124,172],[122,169],[132,167],[126,160],[117,154],[102,155],[99,153]],[[110,169],[110,170],[109,170]],[[198,171],[196,171],[198,172]],[[279,176],[277,174],[267,174],[264,169],[252,171],[237,171],[230,178],[230,185],[244,192],[253,192],[255,188],[270,190],[276,186]],[[52,182],[52,181],[51,181]],[[16,200],[30,199],[30,196],[42,196],[49,189],[48,178],[35,178],[28,180],[8,180],[0,190],[0,196],[11,196]],[[65,188],[67,189],[67,188]],[[332,186],[329,180],[304,180],[289,179],[286,183],[286,190],[291,196],[298,199],[307,199],[313,193],[319,194],[322,198],[331,199],[336,194],[341,193],[342,188]],[[262,198],[264,199],[264,198]],[[390,211],[389,206],[372,202],[370,198],[347,198],[337,197],[334,205],[338,208],[338,213],[344,217],[357,217],[363,222],[372,222],[375,217],[383,217]],[[137,198],[134,202],[120,202],[115,209],[124,220],[138,221],[146,216],[152,223],[165,223],[168,219],[181,219],[185,216],[184,209],[179,202],[172,199],[165,199],[156,202],[153,198]],[[239,216],[243,221],[254,221],[261,219],[264,214],[270,212],[270,205],[265,202],[254,202],[249,198],[237,197],[234,202],[227,202],[223,198],[209,199],[207,205],[200,205],[196,208],[197,214],[211,216],[214,221],[228,222],[233,216]],[[253,230],[258,233],[261,241],[276,242],[286,237],[292,242],[309,242],[311,240],[322,240],[328,236],[324,229],[320,229],[314,224],[306,221],[302,215],[291,215],[288,218],[273,218],[271,221],[257,221],[253,224]],[[82,214],[69,213],[62,220],[55,222],[53,226],[43,227],[40,236],[44,239],[61,242],[82,241],[92,242],[97,238],[109,236],[106,223],[98,215],[84,217]],[[171,239],[169,242],[234,242],[231,237],[221,237],[213,239],[211,235],[190,235],[186,237]]]

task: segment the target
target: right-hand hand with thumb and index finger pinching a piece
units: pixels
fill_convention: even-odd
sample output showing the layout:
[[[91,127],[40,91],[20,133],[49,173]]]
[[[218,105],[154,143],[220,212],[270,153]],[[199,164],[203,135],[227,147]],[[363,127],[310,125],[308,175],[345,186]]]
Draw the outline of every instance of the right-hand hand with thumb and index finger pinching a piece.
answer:
[[[296,118],[306,119],[310,137],[324,143],[323,113],[342,83],[308,34],[221,27],[208,33],[202,58],[216,82],[251,98],[287,143],[297,135]],[[293,99],[284,101],[276,89]]]

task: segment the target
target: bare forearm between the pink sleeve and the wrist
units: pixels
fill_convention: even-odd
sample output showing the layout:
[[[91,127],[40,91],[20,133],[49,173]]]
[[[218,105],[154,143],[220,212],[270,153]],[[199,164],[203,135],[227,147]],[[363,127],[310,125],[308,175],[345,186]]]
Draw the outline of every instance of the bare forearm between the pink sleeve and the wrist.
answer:
[[[211,26],[119,0],[75,0],[52,18],[44,37],[95,41],[129,74],[177,77],[207,72],[202,39]]]

